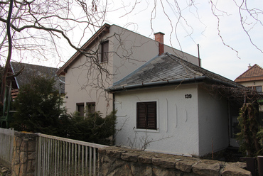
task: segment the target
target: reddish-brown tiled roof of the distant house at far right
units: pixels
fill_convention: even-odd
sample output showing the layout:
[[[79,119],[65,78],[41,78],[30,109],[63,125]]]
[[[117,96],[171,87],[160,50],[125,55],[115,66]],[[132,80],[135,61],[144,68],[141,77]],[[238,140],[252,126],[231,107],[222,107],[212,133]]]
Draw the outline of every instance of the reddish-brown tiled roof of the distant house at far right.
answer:
[[[263,69],[255,64],[235,79],[235,82],[263,80]]]

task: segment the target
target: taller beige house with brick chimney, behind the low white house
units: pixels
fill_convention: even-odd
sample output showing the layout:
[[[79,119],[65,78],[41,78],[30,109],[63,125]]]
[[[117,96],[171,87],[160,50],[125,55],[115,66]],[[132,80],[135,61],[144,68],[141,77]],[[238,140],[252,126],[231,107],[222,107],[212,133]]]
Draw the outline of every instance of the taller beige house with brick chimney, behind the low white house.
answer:
[[[87,107],[88,111],[109,114],[114,109],[114,97],[104,89],[163,52],[200,65],[198,57],[163,45],[163,35],[155,33],[153,40],[116,25],[104,24],[57,72],[65,76],[68,111],[80,111],[84,115]]]

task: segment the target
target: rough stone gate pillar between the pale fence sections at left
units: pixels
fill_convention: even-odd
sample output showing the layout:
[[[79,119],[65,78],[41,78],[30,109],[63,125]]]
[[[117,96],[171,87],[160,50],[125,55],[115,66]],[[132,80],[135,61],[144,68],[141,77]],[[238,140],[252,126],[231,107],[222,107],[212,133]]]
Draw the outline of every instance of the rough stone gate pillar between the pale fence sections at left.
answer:
[[[36,138],[34,133],[16,132],[12,158],[12,176],[33,176],[36,170]]]

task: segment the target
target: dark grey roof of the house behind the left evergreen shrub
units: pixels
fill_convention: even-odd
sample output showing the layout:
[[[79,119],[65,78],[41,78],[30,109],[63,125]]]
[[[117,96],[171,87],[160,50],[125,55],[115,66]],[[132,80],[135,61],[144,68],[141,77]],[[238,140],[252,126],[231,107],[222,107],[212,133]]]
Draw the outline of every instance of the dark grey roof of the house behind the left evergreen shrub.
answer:
[[[53,77],[55,79],[55,89],[59,89],[60,85],[60,91],[61,93],[65,93],[65,77],[58,77],[55,72],[58,71],[57,68],[54,67],[45,67],[41,65],[32,65],[32,64],[26,64],[21,62],[10,62],[12,72],[16,74],[21,70],[22,67],[24,67],[21,74],[15,77],[16,85],[18,89],[23,86],[24,84],[30,83],[31,77],[36,77],[38,75],[47,76],[47,77]],[[62,84],[61,84],[62,83]]]

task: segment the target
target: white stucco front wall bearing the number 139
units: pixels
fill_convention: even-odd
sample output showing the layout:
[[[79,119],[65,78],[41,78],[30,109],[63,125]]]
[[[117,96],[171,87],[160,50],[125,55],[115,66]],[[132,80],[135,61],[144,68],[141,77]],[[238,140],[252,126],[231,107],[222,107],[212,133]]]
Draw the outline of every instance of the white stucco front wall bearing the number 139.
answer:
[[[192,97],[186,99],[186,94]],[[149,141],[155,141],[147,150],[199,154],[197,84],[116,93],[115,99],[117,129],[122,128],[117,132],[116,145],[140,148],[140,140],[147,136]],[[136,102],[139,101],[157,101],[158,130],[136,129]]]

